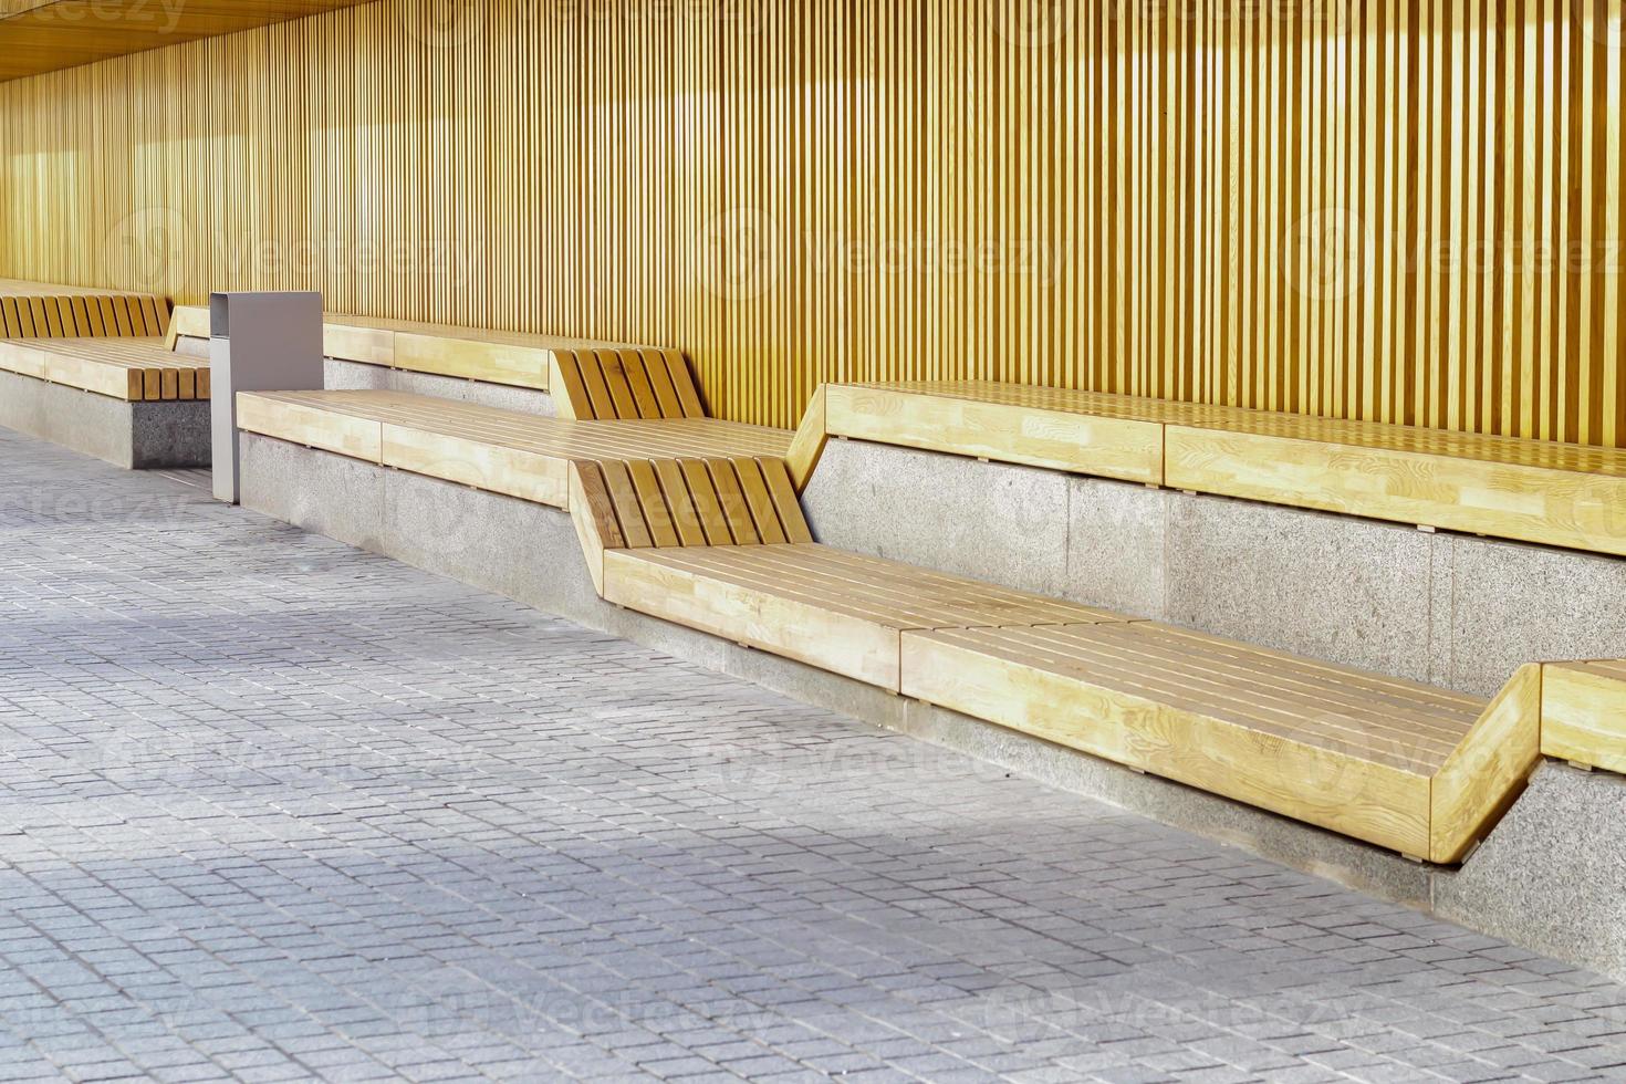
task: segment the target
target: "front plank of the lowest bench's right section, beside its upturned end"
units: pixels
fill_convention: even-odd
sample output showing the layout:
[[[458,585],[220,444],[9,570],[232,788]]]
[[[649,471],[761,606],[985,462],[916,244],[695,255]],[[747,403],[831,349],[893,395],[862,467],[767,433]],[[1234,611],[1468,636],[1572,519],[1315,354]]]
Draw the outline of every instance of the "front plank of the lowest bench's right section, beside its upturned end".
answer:
[[[1402,853],[1429,853],[1429,778],[979,650],[902,634],[904,696]]]

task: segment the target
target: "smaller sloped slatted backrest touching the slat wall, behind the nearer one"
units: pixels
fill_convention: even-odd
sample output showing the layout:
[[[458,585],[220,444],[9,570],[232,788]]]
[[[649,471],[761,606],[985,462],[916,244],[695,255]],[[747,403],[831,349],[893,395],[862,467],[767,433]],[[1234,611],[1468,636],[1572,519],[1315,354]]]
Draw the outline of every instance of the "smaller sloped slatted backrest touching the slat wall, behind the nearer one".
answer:
[[[704,418],[683,354],[672,349],[554,351],[553,400],[577,421]]]

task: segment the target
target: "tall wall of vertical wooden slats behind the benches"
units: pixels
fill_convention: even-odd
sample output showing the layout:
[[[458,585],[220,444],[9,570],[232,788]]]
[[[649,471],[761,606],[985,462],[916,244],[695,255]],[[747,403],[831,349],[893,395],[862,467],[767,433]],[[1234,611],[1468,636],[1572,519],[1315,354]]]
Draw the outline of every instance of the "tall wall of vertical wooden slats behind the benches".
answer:
[[[0,275],[1621,445],[1621,7],[379,0],[0,86]]]

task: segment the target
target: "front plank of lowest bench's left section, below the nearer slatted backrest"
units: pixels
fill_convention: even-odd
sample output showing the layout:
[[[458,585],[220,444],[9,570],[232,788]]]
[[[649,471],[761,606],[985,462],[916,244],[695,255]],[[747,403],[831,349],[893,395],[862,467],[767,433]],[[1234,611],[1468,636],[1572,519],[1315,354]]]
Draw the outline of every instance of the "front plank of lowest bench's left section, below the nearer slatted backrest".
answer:
[[[605,554],[605,598],[735,644],[898,691],[898,629],[662,564],[662,549]]]

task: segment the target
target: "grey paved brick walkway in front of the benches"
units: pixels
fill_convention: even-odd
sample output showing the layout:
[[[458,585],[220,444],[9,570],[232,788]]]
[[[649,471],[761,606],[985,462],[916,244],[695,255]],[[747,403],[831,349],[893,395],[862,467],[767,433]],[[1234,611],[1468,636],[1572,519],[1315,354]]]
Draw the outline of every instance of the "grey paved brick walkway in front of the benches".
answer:
[[[1626,990],[0,431],[0,1077],[1626,1079]]]

